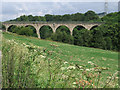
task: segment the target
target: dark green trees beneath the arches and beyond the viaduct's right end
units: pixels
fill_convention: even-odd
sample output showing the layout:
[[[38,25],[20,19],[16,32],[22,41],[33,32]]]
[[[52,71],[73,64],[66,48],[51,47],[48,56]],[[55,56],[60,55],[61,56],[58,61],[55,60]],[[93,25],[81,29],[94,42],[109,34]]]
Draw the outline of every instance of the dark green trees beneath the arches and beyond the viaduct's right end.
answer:
[[[95,27],[91,30],[77,26],[74,28],[72,36],[70,35],[69,29],[65,26],[59,27],[56,30],[56,33],[53,33],[52,29],[49,26],[44,26],[40,29],[40,35],[42,39],[49,39],[78,46],[120,51],[120,25],[118,23],[120,22],[119,18],[120,12],[107,14],[101,18],[101,21],[105,22],[101,26]],[[24,29],[14,27],[10,29],[10,32],[20,35],[37,36],[35,29],[32,27],[22,28]]]

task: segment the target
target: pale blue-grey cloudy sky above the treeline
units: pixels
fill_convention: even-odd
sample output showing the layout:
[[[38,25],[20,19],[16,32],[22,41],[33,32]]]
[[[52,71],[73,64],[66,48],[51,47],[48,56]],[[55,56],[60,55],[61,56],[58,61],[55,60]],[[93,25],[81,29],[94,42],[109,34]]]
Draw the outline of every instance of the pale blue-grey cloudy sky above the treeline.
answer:
[[[74,1],[74,2],[73,2]],[[83,2],[84,1],[84,2]],[[37,15],[45,14],[63,15],[72,13],[85,13],[93,10],[96,13],[104,12],[105,0],[2,0],[0,4],[0,21],[15,19],[21,15]],[[107,0],[109,1],[109,0]],[[2,6],[2,7],[1,7]],[[117,12],[117,0],[108,2],[108,12]]]

